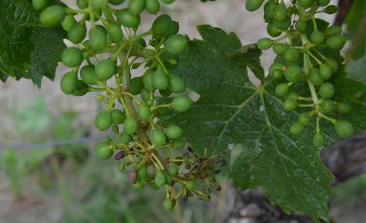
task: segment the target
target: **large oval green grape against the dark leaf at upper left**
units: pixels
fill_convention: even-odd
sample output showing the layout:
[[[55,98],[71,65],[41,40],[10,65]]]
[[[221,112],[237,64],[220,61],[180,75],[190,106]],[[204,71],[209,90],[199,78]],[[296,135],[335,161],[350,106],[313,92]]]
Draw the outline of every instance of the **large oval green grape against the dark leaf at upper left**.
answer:
[[[43,25],[55,27],[65,18],[65,8],[61,5],[51,5],[45,8],[39,15]]]

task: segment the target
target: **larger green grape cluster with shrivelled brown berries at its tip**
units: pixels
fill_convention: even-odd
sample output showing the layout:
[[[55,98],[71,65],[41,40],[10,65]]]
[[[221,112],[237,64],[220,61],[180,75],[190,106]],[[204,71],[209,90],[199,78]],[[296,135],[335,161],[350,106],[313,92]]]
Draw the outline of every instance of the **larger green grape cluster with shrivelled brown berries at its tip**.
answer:
[[[61,25],[68,32],[68,40],[75,44],[62,54],[63,64],[72,70],[62,77],[61,90],[74,96],[100,92],[96,99],[106,106],[96,116],[95,125],[100,131],[111,128],[118,140],[105,138],[96,146],[95,154],[105,160],[115,153],[120,171],[130,166],[128,178],[134,188],[146,184],[153,189],[166,186],[163,206],[167,210],[173,208],[179,196],[183,201],[191,196],[209,201],[210,187],[220,190],[213,175],[218,173],[216,165],[226,164],[220,158],[224,154],[207,157],[206,146],[203,156],[189,147],[189,152],[181,157],[172,157],[171,149],[185,146],[181,138],[183,130],[174,123],[157,122],[166,109],[184,112],[191,107],[192,101],[185,95],[178,95],[166,104],[157,104],[155,100],[156,91],[169,97],[186,90],[185,81],[170,70],[178,65],[178,55],[185,51],[189,41],[177,34],[178,22],[166,14],[158,16],[150,30],[137,34],[142,11],[156,14],[160,3],[128,0],[125,8],[109,7],[123,1],[77,0],[78,9],[73,9],[48,5],[47,0],[32,0],[34,8],[41,11],[40,21],[51,27]],[[174,0],[161,1],[169,4]],[[76,15],[81,19],[76,20]],[[91,26],[89,30],[87,23]],[[147,37],[148,43],[143,39]],[[97,59],[97,55],[105,53],[112,56]],[[81,65],[83,61],[87,64]],[[145,73],[131,79],[131,70],[142,66]],[[113,80],[114,87],[108,86]],[[116,108],[117,103],[123,110]],[[162,154],[168,155],[163,158]]]

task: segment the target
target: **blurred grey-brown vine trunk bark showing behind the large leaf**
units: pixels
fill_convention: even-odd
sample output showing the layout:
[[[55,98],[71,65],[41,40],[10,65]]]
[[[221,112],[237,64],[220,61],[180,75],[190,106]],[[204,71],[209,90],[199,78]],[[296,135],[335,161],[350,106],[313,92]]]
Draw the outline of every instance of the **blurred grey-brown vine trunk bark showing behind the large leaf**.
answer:
[[[366,131],[322,149],[320,156],[336,178],[332,186],[365,173]],[[270,205],[259,189],[244,192],[229,189],[226,206],[222,223],[314,223],[302,213],[288,215],[278,206]]]

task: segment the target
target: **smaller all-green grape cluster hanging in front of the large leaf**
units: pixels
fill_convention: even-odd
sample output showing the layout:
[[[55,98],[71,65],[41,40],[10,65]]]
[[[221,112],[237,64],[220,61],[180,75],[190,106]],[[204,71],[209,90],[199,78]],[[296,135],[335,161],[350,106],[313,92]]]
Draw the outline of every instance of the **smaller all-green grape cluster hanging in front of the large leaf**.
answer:
[[[262,38],[257,42],[260,50],[272,47],[273,51],[284,59],[284,62],[274,62],[269,68],[269,75],[273,79],[284,81],[275,88],[276,94],[285,100],[284,109],[286,111],[298,107],[311,109],[299,115],[298,122],[290,127],[290,132],[294,135],[300,134],[309,124],[310,118],[316,116],[316,131],[313,138],[316,146],[324,146],[326,143],[320,130],[320,119],[332,122],[337,134],[342,138],[353,134],[350,122],[328,116],[336,112],[346,114],[350,110],[349,104],[332,100],[335,88],[327,80],[338,71],[338,63],[325,57],[320,50],[329,48],[339,54],[346,42],[341,35],[341,27],[337,25],[327,27],[324,32],[317,28],[316,14],[337,12],[337,6],[328,5],[329,2],[330,0],[292,0],[291,5],[286,6],[283,0],[268,0],[264,5],[264,20],[268,23],[267,32],[271,37],[279,38],[274,40]],[[247,0],[245,6],[248,11],[255,11],[262,3],[263,0]],[[310,38],[306,35],[309,24],[314,26]],[[280,37],[282,34],[284,35]],[[288,39],[289,42],[280,42],[284,39]],[[296,44],[296,39],[300,39],[301,43]],[[311,97],[301,97],[291,89],[294,83],[301,81],[308,83]]]

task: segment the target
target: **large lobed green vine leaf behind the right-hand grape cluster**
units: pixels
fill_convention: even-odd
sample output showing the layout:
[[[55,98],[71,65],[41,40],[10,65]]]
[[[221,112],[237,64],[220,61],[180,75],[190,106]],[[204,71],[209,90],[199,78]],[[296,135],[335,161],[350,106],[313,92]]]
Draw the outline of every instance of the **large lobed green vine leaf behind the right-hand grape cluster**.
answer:
[[[248,78],[247,67],[260,77],[261,52],[253,45],[241,47],[232,41],[237,39],[234,34],[218,28],[201,25],[198,31],[203,41],[191,41],[172,72],[184,78],[200,98],[189,111],[171,111],[161,122],[175,122],[185,129],[186,140],[198,152],[207,140],[212,154],[241,144],[243,151],[230,174],[236,188],[261,187],[269,201],[284,211],[295,209],[317,222],[319,218],[329,221],[327,201],[333,176],[312,142],[314,120],[301,135],[292,135],[290,126],[302,111],[284,111],[282,99],[274,93],[279,81],[262,79],[260,86],[254,86]],[[329,81],[337,89],[335,100],[352,106],[344,117],[335,116],[352,122],[356,132],[365,129],[366,108],[352,101],[352,96],[366,85],[346,78],[344,71]],[[295,87],[300,94],[309,91],[306,84]],[[329,143],[338,140],[332,124],[321,124]]]

